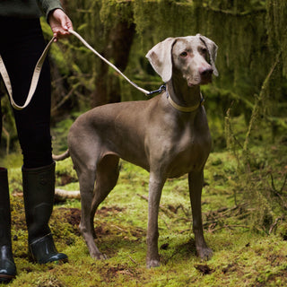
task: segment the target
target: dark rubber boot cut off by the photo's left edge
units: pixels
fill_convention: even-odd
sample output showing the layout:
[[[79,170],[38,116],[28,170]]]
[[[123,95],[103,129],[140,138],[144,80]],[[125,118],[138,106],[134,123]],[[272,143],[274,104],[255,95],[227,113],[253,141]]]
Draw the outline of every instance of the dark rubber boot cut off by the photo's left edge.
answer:
[[[16,276],[11,243],[11,212],[7,170],[0,168],[0,283]]]

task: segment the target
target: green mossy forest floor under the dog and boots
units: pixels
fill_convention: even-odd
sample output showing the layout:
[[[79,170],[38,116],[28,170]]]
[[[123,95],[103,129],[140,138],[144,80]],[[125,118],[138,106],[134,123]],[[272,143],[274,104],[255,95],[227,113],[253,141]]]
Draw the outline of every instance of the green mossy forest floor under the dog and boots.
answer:
[[[69,199],[56,203],[50,220],[57,248],[68,255],[69,262],[37,265],[27,256],[21,168],[11,168],[13,253],[18,274],[8,286],[287,285],[287,144],[262,144],[252,152],[249,175],[239,174],[239,158],[228,151],[212,152],[207,161],[202,208],[204,236],[213,249],[207,262],[196,257],[187,176],[166,182],[159,214],[161,266],[152,269],[145,267],[146,171],[122,161],[117,186],[96,213],[95,241],[107,260],[89,256],[78,229],[80,200]],[[57,187],[79,189],[70,159],[57,162]]]

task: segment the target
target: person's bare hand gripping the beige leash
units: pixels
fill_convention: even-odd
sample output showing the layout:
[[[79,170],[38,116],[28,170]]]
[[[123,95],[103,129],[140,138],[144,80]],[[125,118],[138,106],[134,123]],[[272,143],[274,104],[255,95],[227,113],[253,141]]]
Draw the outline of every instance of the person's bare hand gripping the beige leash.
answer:
[[[55,41],[67,37],[70,34],[68,30],[73,30],[72,21],[61,9],[55,9],[49,13],[48,22],[53,31]]]

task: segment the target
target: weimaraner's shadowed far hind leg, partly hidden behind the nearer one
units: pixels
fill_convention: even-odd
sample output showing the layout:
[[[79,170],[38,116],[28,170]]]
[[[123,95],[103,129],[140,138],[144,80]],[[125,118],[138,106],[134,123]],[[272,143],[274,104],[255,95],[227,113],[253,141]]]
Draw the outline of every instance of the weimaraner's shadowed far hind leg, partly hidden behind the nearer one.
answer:
[[[119,158],[116,155],[110,154],[106,155],[98,164],[96,172],[96,187],[91,202],[91,226],[93,226],[93,219],[97,208],[117,184],[119,173],[118,161]],[[97,237],[94,229],[93,237]]]

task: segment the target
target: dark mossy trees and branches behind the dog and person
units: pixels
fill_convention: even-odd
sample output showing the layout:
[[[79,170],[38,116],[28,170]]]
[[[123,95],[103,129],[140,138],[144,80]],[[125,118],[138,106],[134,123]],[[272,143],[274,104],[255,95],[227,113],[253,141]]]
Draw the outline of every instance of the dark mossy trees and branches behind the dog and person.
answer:
[[[161,79],[145,58],[152,46],[167,37],[196,33],[213,39],[219,46],[216,64],[220,76],[212,85],[204,86],[203,91],[214,149],[229,142],[224,134],[227,112],[230,117],[244,117],[247,128],[253,114],[253,122],[265,124],[260,136],[271,141],[286,134],[285,1],[64,0],[63,6],[74,22],[74,30],[147,90],[156,90],[161,85]],[[51,32],[44,19],[42,26],[49,39]],[[50,63],[53,126],[67,117],[73,121],[79,113],[95,106],[146,99],[74,36],[51,48]],[[10,152],[17,135],[7,97],[2,101],[2,150]],[[283,140],[287,141],[286,137]]]

